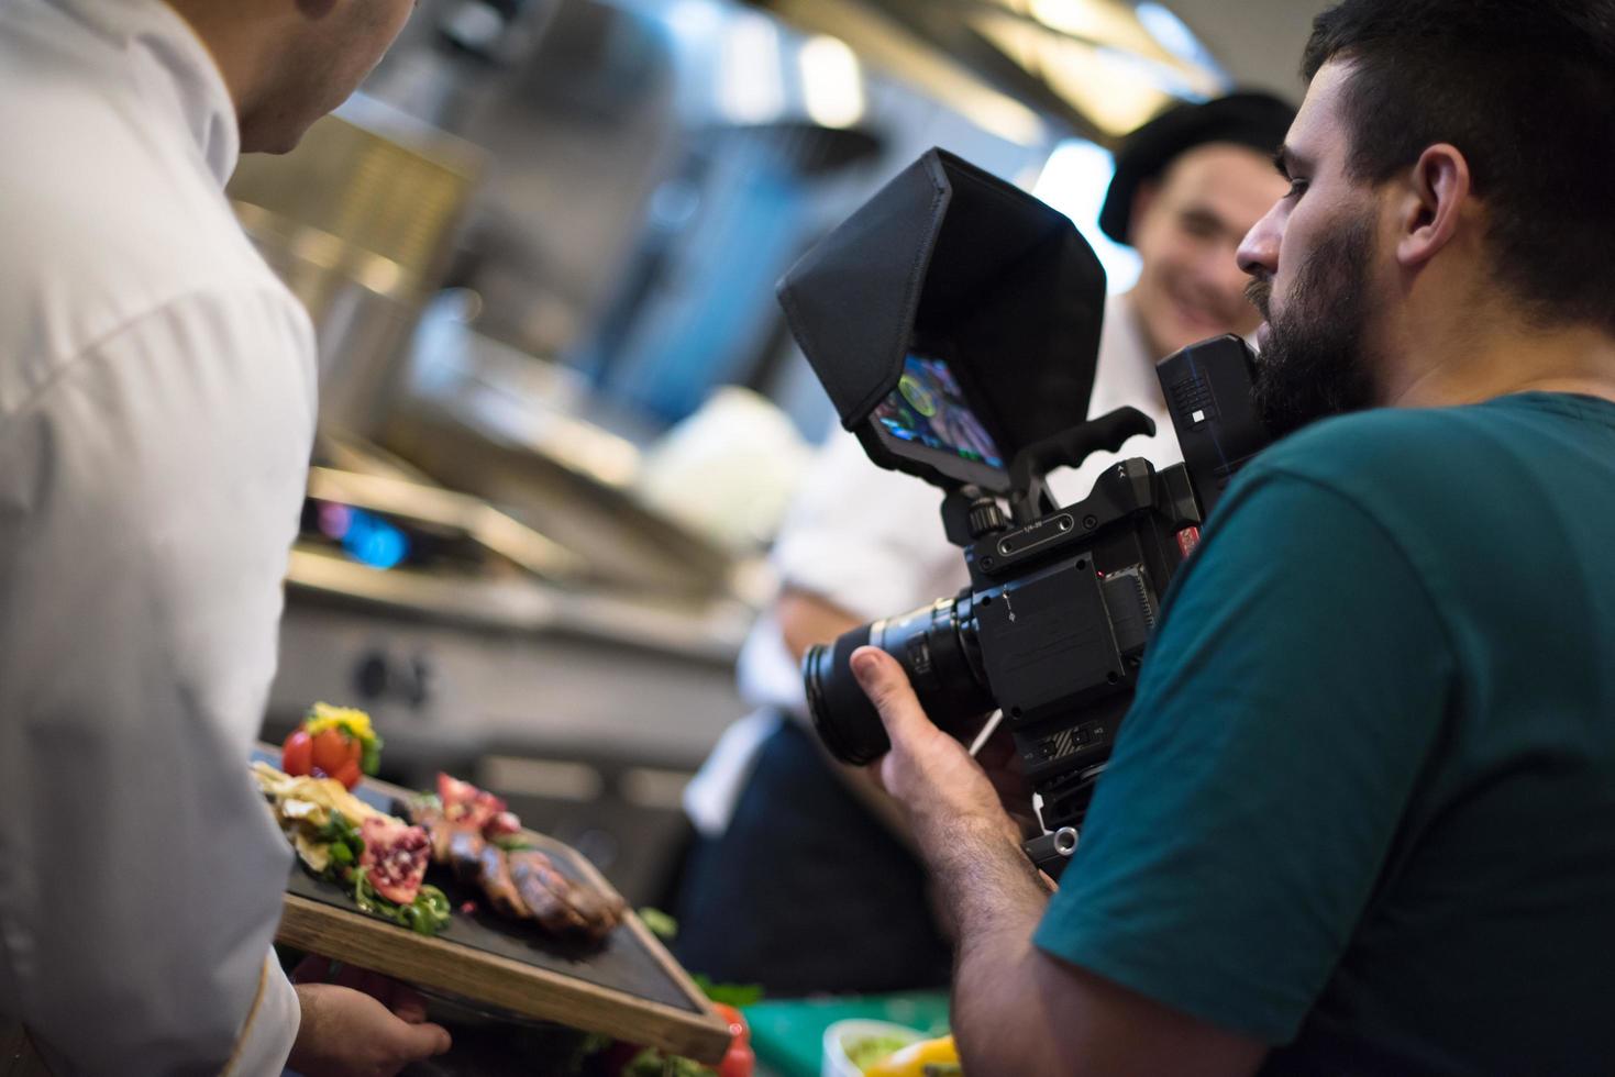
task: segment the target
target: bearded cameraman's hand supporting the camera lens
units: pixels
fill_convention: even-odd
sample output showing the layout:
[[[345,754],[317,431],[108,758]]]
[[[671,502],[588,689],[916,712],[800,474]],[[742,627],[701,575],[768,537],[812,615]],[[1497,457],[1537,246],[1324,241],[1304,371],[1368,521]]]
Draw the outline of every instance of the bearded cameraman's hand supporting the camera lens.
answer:
[[[1022,825],[1005,811],[1003,799],[1030,804],[1030,798],[1008,765],[1013,757],[1008,735],[1000,730],[982,752],[984,759],[1001,764],[990,775],[964,744],[925,717],[896,659],[879,647],[859,647],[851,664],[891,740],[891,751],[879,764],[880,783],[903,804],[921,844],[946,841],[948,832],[961,825],[1019,844]]]

